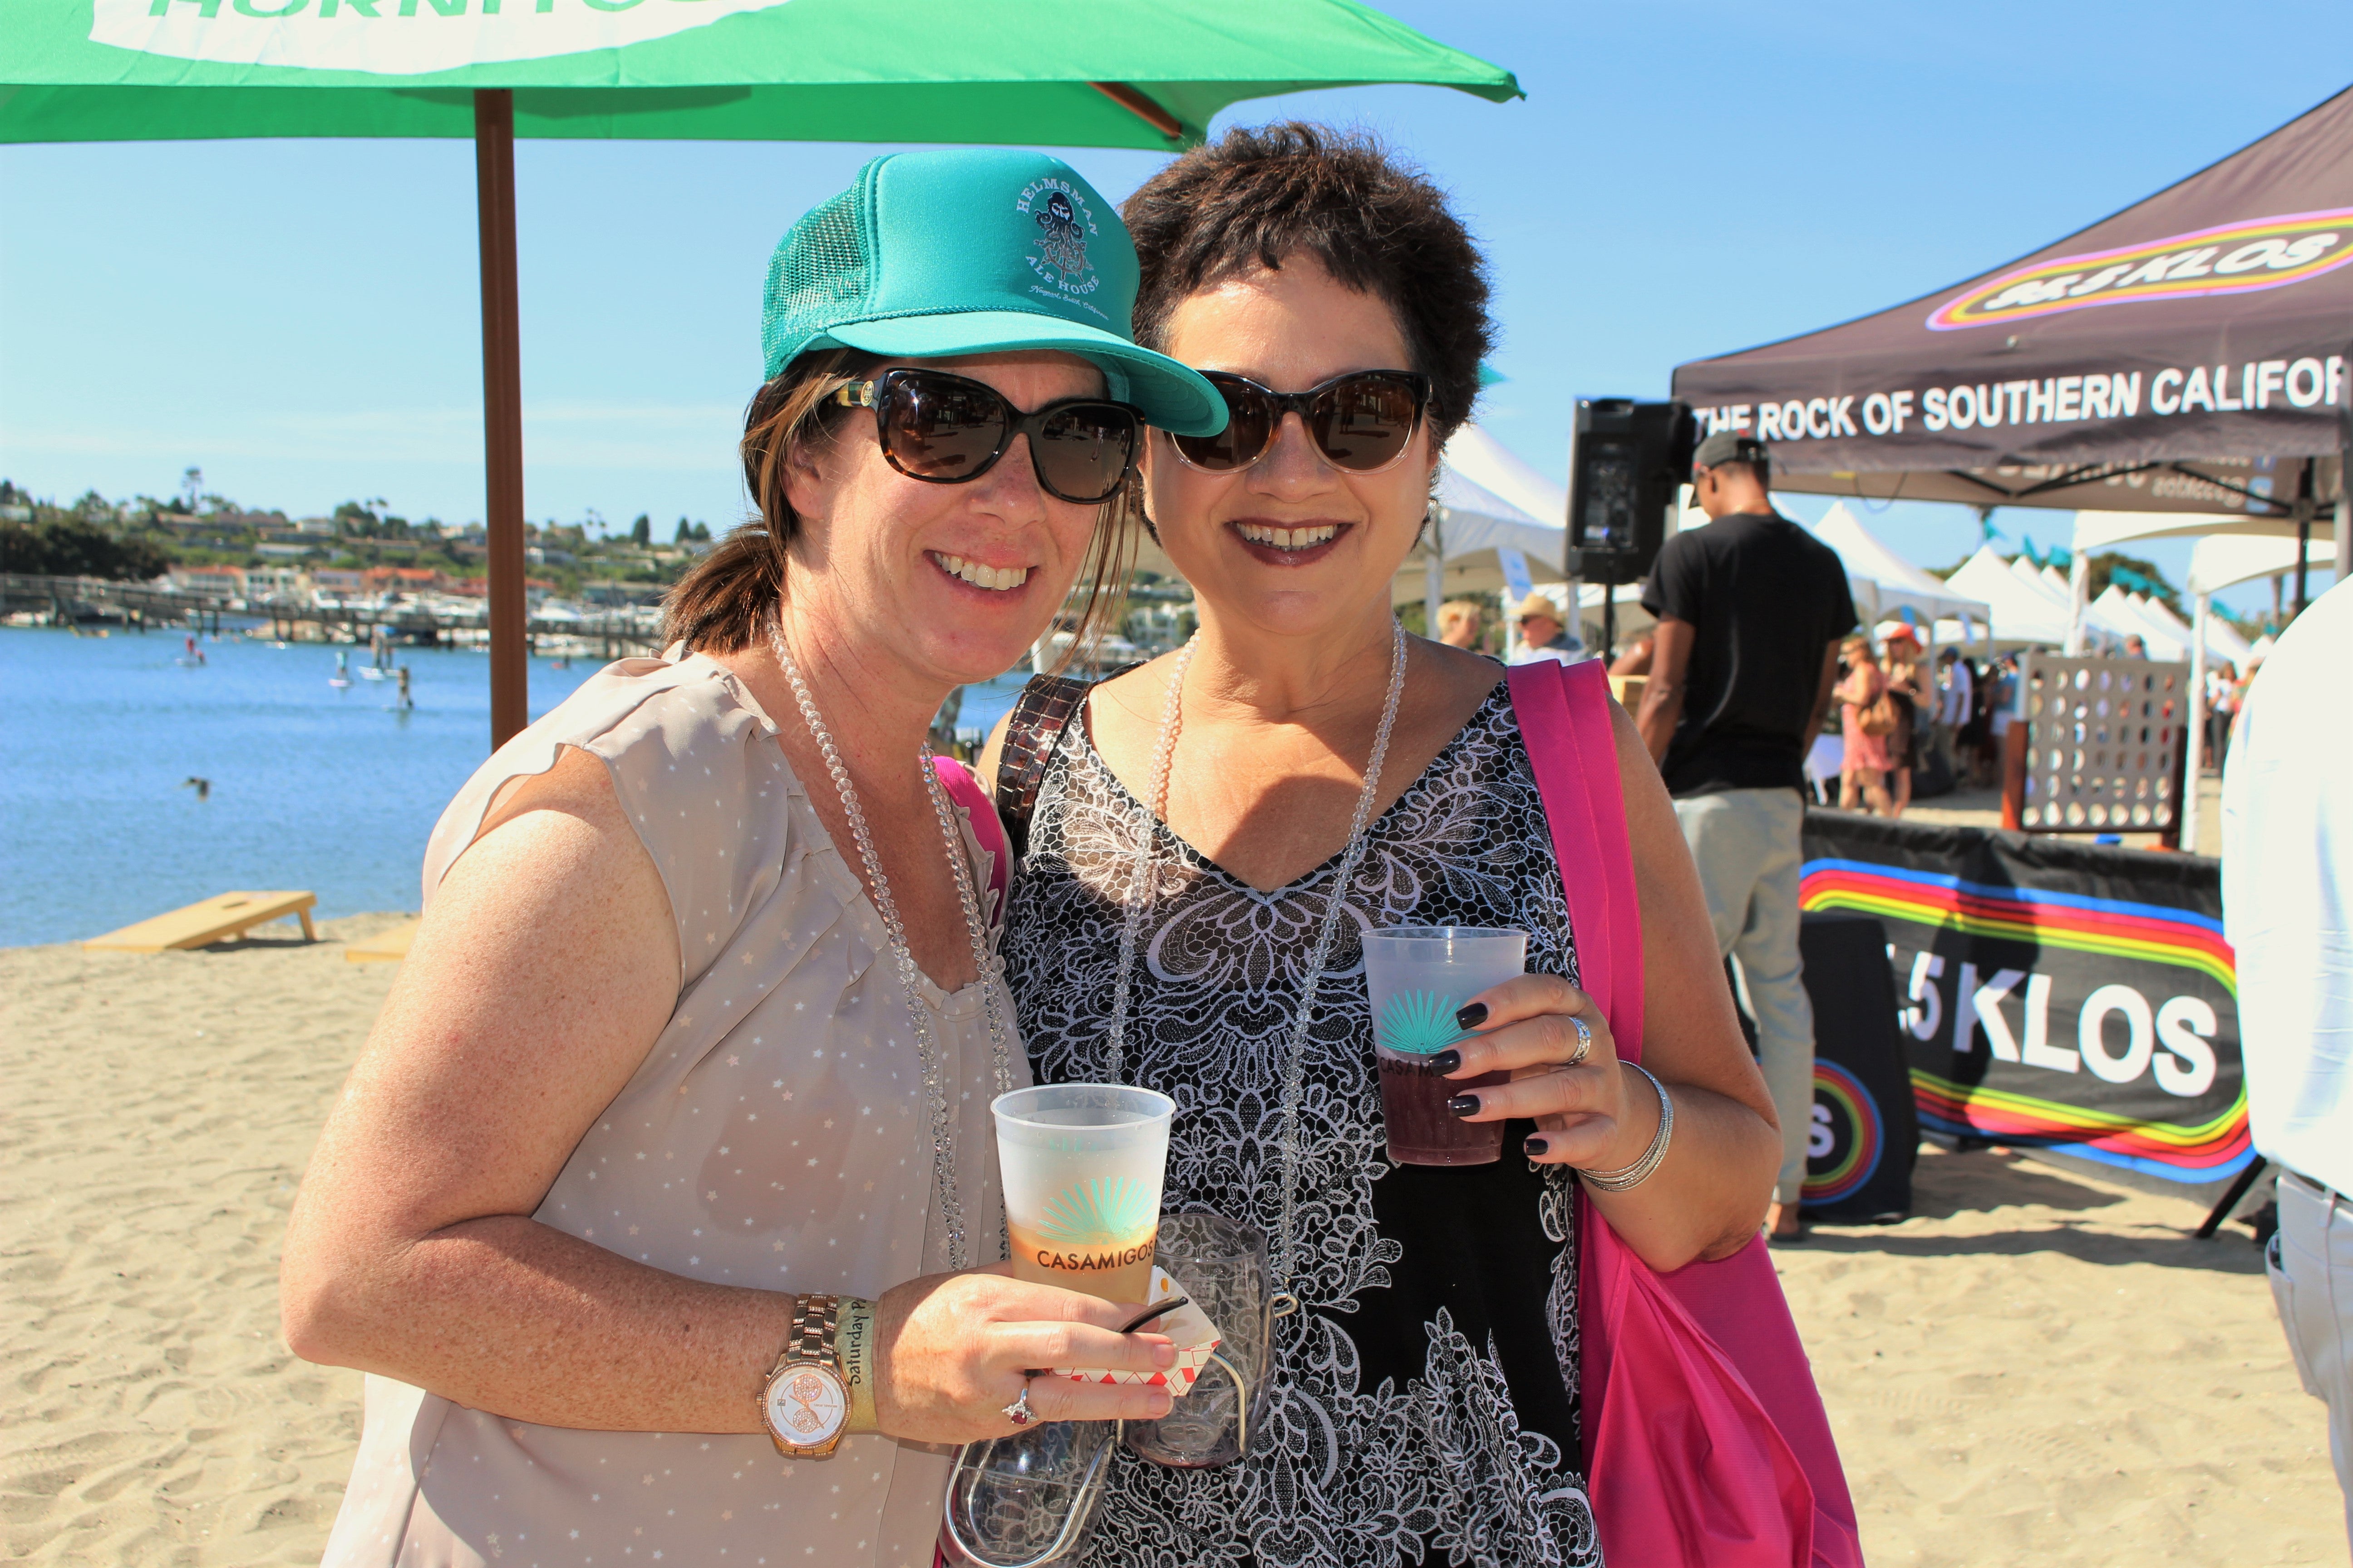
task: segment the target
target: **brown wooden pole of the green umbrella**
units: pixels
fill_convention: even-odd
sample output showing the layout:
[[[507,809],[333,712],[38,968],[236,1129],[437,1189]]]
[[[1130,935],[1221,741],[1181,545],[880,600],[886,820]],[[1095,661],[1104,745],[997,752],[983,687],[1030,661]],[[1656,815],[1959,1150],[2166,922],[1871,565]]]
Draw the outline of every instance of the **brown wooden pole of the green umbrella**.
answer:
[[[529,724],[522,604],[522,329],[515,289],[515,94],[473,94],[482,223],[482,458],[489,470],[489,745]]]

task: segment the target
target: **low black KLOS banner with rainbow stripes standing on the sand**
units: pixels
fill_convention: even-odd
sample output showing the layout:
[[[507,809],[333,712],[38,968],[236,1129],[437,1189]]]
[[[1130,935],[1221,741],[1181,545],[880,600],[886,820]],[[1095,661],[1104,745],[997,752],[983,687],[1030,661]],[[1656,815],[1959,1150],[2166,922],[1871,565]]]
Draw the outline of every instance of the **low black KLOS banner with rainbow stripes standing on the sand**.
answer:
[[[1875,914],[1922,1126],[2205,1185],[2252,1159],[2219,865],[1812,813],[1805,910]]]

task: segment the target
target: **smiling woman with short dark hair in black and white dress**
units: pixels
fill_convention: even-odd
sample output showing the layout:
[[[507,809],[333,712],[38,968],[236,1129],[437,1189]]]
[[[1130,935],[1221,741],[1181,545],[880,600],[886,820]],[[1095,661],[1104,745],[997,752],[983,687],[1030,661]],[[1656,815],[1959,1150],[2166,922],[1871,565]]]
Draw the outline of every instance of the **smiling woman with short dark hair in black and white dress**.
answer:
[[[1428,179],[1308,125],[1231,132],[1125,214],[1139,341],[1228,404],[1144,461],[1200,632],[1061,726],[1026,698],[984,757],[1028,832],[1007,976],[1040,1079],[1176,1098],[1167,1208],[1266,1232],[1299,1309],[1247,1458],[1122,1453],[1087,1556],[1595,1563],[1572,1171],[1624,1178],[1595,1201],[1671,1269],[1755,1237],[1781,1140],[1631,719],[1657,1079],[1577,990],[1504,668],[1391,611],[1492,343],[1485,263]],[[1384,1157],[1360,936],[1433,924],[1527,933],[1433,1056],[1447,1110],[1508,1124],[1494,1164]]]

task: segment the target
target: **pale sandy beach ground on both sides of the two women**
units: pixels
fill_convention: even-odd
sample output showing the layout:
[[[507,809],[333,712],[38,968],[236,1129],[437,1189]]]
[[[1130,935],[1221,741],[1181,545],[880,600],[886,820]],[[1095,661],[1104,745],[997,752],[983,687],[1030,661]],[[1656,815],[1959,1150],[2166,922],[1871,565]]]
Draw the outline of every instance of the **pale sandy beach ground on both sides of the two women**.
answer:
[[[278,1244],[395,914],[209,952],[0,950],[5,1552],[313,1563],[358,1375],[278,1338]],[[289,931],[292,936],[292,931]],[[1873,1563],[2346,1563],[2245,1227],[1998,1154],[1777,1253]]]

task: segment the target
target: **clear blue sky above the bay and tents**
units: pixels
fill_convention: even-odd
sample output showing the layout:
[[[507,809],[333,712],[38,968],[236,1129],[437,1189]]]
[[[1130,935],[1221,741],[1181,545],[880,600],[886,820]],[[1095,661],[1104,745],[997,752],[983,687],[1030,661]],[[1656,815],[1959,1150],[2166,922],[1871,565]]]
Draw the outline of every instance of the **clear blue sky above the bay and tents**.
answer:
[[[1377,87],[1228,120],[1362,125],[1454,190],[1504,324],[1482,418],[1555,477],[1574,397],[1657,397],[1680,360],[2031,252],[2294,118],[2353,61],[2353,9],[2308,0],[1384,9],[1508,66],[1527,101]],[[729,454],[767,254],[875,150],[518,148],[534,520],[741,512]],[[1068,158],[1111,197],[1160,162]],[[386,496],[480,517],[471,143],[12,146],[0,212],[7,477],[169,494],[200,465],[207,489],[296,515]],[[1866,522],[1922,564],[1977,541],[1962,508]],[[2064,515],[1995,527],[2047,543]],[[2179,581],[2186,545],[2148,552]]]

